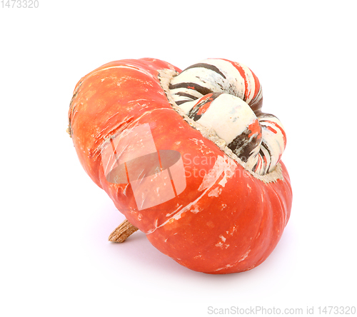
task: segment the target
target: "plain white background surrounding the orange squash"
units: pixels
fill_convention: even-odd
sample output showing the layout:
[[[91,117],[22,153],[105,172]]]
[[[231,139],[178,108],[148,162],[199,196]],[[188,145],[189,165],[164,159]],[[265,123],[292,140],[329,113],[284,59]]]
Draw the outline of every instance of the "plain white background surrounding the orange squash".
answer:
[[[355,1],[45,1],[0,9],[1,316],[209,316],[357,306]],[[190,271],[122,221],[76,157],[77,81],[117,59],[249,66],[283,122],[291,219],[245,273]],[[216,311],[218,312],[218,311]]]

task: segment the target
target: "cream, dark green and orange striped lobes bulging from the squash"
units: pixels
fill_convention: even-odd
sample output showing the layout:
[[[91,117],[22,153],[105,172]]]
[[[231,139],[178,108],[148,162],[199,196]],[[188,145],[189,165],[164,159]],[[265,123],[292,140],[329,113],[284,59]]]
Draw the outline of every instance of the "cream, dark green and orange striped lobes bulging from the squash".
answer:
[[[216,131],[247,168],[273,171],[286,146],[281,121],[260,111],[261,85],[243,64],[206,59],[171,80],[171,96],[185,114]]]

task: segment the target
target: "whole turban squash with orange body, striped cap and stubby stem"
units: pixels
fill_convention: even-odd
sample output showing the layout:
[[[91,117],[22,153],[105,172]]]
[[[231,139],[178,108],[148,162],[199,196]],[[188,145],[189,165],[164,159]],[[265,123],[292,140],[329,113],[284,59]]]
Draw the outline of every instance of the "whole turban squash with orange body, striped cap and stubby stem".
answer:
[[[243,64],[184,71],[157,59],[113,61],[74,89],[68,132],[79,161],[126,221],[162,253],[204,273],[247,271],[278,243],[292,192],[281,122],[261,111]]]

